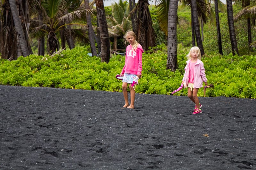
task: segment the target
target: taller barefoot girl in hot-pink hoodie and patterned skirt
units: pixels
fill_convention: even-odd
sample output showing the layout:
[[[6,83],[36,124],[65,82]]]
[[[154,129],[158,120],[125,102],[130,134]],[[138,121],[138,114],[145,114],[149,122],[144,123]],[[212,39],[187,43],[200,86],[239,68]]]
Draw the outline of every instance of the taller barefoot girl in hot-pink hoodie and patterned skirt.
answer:
[[[121,76],[124,76],[123,78],[123,94],[124,94],[124,100],[125,104],[123,107],[134,109],[134,100],[135,100],[135,90],[134,86],[132,85],[133,79],[137,76],[138,78],[141,78],[141,71],[142,71],[142,53],[144,52],[141,45],[136,41],[136,35],[133,31],[127,31],[124,35],[125,44],[127,42],[130,43],[126,47],[126,54],[125,54],[125,64],[124,68],[121,72]],[[131,94],[131,103],[129,105],[128,101],[128,92],[127,92],[127,86],[129,85],[130,88],[130,94]]]

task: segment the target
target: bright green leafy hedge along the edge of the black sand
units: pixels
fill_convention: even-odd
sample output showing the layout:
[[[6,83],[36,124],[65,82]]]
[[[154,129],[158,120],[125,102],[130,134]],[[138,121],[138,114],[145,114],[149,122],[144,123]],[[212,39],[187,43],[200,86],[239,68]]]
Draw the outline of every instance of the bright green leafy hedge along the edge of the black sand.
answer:
[[[176,90],[183,78],[188,49],[179,45],[178,52],[175,72],[166,70],[167,49],[164,45],[143,53],[142,78],[136,92],[170,95]],[[86,48],[76,47],[53,57],[29,55],[16,61],[0,59],[0,84],[122,92],[122,82],[115,76],[122,71],[125,57],[113,55],[107,64],[87,53]],[[207,97],[256,99],[255,56],[209,55],[202,61],[208,84],[214,85],[214,88],[206,89]],[[187,95],[187,89],[174,95]],[[198,95],[204,96],[203,88],[199,89]]]

